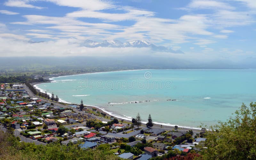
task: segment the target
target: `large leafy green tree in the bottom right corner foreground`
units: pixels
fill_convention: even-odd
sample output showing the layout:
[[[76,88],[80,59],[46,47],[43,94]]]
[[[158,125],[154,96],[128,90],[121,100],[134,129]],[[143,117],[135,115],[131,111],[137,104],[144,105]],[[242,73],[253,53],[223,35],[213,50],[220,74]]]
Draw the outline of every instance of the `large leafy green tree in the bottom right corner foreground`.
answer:
[[[205,130],[201,149],[203,159],[256,159],[256,103],[243,105],[227,122]]]

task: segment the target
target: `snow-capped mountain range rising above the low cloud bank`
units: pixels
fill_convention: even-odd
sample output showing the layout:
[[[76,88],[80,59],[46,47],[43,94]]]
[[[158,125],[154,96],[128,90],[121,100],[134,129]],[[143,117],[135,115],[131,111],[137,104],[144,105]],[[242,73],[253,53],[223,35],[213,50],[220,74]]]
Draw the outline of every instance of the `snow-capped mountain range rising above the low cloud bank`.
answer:
[[[140,40],[135,40],[132,42],[120,42],[118,40],[104,40],[102,42],[96,42],[92,40],[85,40],[81,43],[81,46],[84,47],[115,47],[115,48],[122,48],[122,47],[137,47],[137,48],[142,48],[142,47],[149,47],[152,50],[156,51],[162,51],[162,52],[170,52],[170,53],[183,53],[181,50],[172,50],[164,46],[156,46],[153,43],[150,43],[148,41],[140,41]]]

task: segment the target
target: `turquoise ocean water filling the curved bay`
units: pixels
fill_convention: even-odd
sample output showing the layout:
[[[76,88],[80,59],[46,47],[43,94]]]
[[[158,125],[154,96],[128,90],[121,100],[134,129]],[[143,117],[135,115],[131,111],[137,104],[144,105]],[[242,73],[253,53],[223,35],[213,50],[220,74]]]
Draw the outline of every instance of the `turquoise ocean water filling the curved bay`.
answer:
[[[226,121],[256,101],[256,70],[133,70],[52,78],[35,85],[63,102],[84,104],[131,119],[198,128]],[[135,103],[137,102],[137,103]]]

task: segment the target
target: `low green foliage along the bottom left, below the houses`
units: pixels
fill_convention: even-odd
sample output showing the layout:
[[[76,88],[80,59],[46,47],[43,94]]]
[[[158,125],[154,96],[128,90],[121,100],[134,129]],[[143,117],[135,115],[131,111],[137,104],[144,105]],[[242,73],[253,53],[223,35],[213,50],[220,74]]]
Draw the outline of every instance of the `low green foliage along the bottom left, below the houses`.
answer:
[[[35,145],[34,143],[19,142],[19,140],[10,133],[0,131],[0,159],[51,159],[51,160],[116,160],[119,157],[108,149],[80,149],[78,145],[60,145],[51,143],[44,145]]]

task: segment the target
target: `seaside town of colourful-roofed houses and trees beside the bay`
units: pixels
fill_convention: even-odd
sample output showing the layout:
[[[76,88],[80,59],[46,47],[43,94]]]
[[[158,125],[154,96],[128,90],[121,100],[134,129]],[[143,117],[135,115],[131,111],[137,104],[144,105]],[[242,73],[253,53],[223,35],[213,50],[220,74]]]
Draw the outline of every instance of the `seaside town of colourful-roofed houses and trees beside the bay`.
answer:
[[[83,149],[107,145],[124,159],[150,159],[168,154],[197,153],[205,141],[202,132],[153,127],[141,124],[138,113],[132,122],[100,113],[96,108],[58,103],[58,96],[34,93],[26,84],[1,84],[0,122],[5,132],[13,132],[20,142],[46,145],[78,144]],[[82,107],[81,107],[82,105]]]

